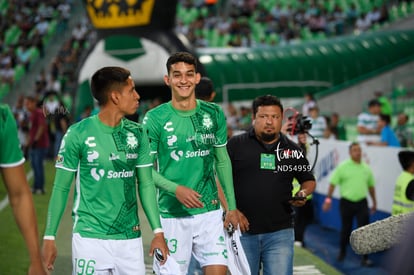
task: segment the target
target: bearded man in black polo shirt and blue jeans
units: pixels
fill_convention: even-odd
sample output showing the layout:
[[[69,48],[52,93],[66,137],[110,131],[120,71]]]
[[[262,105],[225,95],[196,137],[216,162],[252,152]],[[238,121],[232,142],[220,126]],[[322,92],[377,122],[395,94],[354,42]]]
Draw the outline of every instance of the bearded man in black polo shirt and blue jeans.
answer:
[[[233,167],[241,243],[251,274],[293,274],[293,210],[315,189],[302,149],[281,133],[283,105],[271,95],[253,101],[253,127],[227,144]],[[292,181],[301,187],[292,198]]]

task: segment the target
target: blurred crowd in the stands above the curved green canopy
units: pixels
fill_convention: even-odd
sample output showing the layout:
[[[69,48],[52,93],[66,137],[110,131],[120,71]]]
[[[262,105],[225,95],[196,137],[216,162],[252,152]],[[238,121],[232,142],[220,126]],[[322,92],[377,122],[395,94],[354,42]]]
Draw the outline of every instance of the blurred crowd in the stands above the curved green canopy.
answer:
[[[196,47],[283,45],[380,28],[411,12],[411,3],[400,5],[382,0],[182,0],[176,31]]]

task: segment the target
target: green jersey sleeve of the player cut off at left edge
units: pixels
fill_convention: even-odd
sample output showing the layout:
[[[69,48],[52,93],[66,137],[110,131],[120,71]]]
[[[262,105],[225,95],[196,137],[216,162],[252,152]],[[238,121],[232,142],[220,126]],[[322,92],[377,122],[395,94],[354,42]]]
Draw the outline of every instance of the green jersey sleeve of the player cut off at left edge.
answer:
[[[17,123],[7,105],[0,106],[0,167],[15,167],[24,162],[17,135]]]

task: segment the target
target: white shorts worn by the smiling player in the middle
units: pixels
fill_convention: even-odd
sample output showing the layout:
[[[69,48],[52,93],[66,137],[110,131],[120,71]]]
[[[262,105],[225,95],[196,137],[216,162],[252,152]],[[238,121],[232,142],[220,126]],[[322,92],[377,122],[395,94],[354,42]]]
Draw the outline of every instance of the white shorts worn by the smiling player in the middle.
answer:
[[[161,218],[170,254],[187,274],[191,253],[201,267],[226,265],[227,249],[222,220],[223,210],[183,218]]]

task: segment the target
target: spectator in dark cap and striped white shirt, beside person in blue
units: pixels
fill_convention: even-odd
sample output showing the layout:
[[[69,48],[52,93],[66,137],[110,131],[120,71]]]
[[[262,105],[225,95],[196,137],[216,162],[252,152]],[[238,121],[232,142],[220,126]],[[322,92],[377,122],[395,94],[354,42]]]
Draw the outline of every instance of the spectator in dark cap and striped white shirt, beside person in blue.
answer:
[[[368,112],[358,115],[357,121],[357,140],[360,143],[368,141],[377,142],[380,140],[380,129],[378,127],[379,114],[381,113],[381,103],[377,99],[368,102]]]

